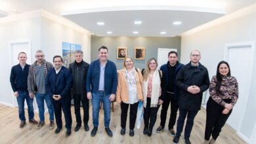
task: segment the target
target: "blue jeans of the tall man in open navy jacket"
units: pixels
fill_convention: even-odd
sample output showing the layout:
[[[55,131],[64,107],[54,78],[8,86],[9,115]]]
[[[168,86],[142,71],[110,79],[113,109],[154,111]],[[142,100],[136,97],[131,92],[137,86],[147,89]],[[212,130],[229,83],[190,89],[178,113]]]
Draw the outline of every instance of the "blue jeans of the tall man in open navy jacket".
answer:
[[[98,127],[98,113],[100,111],[100,101],[103,103],[104,109],[104,126],[108,128],[110,126],[110,95],[105,95],[104,92],[92,93],[92,106],[93,106],[93,126]]]

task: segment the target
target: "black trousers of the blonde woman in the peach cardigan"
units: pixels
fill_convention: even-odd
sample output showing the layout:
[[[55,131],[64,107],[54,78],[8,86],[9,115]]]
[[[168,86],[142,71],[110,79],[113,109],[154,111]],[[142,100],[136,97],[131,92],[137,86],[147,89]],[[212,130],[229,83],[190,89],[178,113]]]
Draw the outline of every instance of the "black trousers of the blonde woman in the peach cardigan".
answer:
[[[129,126],[130,126],[130,130],[133,130],[135,127],[135,121],[137,118],[139,101],[133,104],[127,104],[127,103],[121,102],[121,128],[126,127],[127,112],[128,112],[129,105],[130,105],[130,125]]]

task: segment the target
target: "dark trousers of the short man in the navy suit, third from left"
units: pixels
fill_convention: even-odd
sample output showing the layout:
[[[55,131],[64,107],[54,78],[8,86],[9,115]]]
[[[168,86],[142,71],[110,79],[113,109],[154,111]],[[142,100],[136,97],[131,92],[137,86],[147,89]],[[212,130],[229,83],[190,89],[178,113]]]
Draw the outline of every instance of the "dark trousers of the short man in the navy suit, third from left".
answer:
[[[56,124],[58,128],[62,128],[62,112],[61,109],[64,113],[64,118],[66,122],[66,129],[71,130],[72,126],[72,117],[71,117],[71,103],[70,101],[68,102],[62,102],[62,101],[56,101],[53,99],[53,108],[54,108],[54,115],[56,118]]]

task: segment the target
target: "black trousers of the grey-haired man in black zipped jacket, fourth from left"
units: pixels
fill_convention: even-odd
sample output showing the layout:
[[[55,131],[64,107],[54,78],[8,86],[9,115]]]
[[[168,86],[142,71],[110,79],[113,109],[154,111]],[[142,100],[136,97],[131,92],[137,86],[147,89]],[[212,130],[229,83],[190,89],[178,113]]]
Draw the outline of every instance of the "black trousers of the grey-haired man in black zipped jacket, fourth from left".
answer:
[[[89,120],[89,100],[85,96],[85,98],[81,98],[81,94],[74,94],[74,108],[75,108],[75,120],[77,124],[81,124],[81,113],[80,113],[80,107],[81,102],[83,106],[83,123],[88,124]]]

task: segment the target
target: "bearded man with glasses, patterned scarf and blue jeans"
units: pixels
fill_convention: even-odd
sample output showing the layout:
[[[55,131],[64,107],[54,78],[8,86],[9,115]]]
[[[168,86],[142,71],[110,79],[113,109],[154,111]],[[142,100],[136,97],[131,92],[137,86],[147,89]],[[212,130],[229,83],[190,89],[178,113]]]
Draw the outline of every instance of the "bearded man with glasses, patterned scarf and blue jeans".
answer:
[[[45,79],[47,78],[48,71],[53,68],[53,64],[45,60],[45,54],[43,54],[42,50],[36,51],[35,58],[36,61],[30,66],[28,73],[28,92],[30,98],[33,98],[35,95],[39,109],[40,122],[37,124],[37,130],[45,125],[44,100],[50,116],[49,129],[52,130],[54,128],[54,111],[51,98],[45,90]]]

